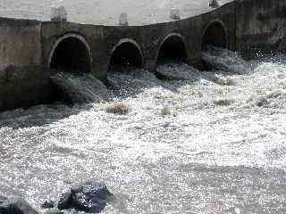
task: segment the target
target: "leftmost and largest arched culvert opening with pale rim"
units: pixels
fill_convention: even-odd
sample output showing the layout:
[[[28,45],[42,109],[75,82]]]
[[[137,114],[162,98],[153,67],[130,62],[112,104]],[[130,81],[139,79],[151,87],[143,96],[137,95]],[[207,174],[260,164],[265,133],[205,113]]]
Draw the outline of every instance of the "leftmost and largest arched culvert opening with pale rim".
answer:
[[[65,35],[54,45],[49,66],[66,72],[91,71],[92,57],[87,41],[76,34]]]

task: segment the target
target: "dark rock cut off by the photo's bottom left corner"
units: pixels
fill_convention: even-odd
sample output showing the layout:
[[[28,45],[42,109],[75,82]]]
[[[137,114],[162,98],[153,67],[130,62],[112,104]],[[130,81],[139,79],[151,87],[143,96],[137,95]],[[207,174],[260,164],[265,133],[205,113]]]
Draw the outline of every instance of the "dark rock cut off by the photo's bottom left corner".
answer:
[[[33,210],[29,203],[21,198],[6,199],[0,197],[0,213],[1,214],[38,214]]]

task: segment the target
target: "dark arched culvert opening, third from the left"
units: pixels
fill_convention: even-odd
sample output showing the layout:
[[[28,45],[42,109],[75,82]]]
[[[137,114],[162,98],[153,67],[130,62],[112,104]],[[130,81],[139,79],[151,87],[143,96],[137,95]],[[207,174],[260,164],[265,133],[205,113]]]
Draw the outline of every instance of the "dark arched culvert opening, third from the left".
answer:
[[[169,62],[187,62],[188,54],[183,37],[169,35],[164,39],[157,56],[157,65]]]

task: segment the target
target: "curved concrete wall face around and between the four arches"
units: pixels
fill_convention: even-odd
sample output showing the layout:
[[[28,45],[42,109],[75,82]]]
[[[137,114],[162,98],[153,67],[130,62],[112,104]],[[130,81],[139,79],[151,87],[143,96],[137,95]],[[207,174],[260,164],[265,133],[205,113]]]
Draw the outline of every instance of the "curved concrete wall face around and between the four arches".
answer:
[[[43,22],[43,64],[49,66],[48,59],[51,57],[57,40],[71,33],[84,37],[88,43],[92,53],[92,72],[103,81],[106,80],[114,46],[126,38],[133,40],[141,48],[143,67],[147,70],[156,70],[157,55],[161,45],[164,39],[172,34],[182,37],[188,53],[188,62],[198,64],[200,63],[202,34],[213,21],[223,23],[227,30],[228,46],[231,50],[235,49],[234,10],[235,4],[224,4],[217,10],[200,16],[148,26],[93,26],[71,22]]]

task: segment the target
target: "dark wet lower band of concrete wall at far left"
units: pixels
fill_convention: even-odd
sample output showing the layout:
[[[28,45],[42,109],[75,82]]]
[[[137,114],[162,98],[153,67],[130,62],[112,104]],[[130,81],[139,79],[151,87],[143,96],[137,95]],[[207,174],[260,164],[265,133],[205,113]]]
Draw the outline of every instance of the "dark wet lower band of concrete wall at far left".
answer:
[[[0,70],[0,111],[47,103],[49,73],[42,66],[8,66]]]

